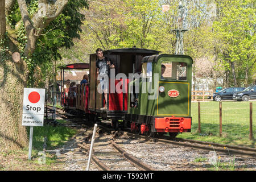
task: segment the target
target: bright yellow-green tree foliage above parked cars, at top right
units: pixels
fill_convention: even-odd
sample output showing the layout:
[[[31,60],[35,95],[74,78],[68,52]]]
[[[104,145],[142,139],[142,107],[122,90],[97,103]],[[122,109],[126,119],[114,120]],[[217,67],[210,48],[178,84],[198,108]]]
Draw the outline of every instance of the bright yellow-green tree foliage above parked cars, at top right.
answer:
[[[220,18],[213,22],[214,35],[221,49],[226,71],[236,67],[238,83],[249,84],[255,61],[255,2],[251,0],[220,1]],[[233,76],[232,76],[233,78]]]

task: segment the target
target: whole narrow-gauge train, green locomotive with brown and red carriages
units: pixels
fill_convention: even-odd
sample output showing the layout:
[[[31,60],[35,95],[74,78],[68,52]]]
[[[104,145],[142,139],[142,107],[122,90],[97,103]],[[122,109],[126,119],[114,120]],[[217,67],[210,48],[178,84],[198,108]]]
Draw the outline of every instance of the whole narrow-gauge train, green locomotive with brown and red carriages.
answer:
[[[193,60],[190,56],[159,53],[143,48],[104,51],[104,56],[115,65],[109,78],[106,110],[100,109],[105,101],[98,92],[96,53],[90,55],[89,67],[84,63],[60,67],[61,87],[64,69],[89,68],[90,72],[89,84],[69,88],[68,96],[65,91],[61,93],[61,105],[83,111],[94,121],[111,123],[114,127],[121,124],[149,136],[169,133],[170,137],[176,137],[178,133],[190,132]]]

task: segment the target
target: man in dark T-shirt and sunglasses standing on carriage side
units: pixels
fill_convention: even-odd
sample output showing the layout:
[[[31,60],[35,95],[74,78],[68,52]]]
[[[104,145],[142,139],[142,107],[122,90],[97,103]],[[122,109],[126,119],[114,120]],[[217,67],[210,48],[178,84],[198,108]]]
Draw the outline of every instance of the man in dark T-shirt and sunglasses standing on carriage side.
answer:
[[[100,76],[100,84],[101,84],[101,90],[104,92],[104,98],[105,98],[105,106],[101,108],[101,110],[107,109],[108,105],[108,87],[109,87],[109,79],[106,79],[110,75],[110,70],[115,68],[112,61],[108,57],[104,57],[103,51],[101,48],[97,48],[96,55],[98,56],[98,59],[96,61],[96,69],[97,69],[97,75]]]

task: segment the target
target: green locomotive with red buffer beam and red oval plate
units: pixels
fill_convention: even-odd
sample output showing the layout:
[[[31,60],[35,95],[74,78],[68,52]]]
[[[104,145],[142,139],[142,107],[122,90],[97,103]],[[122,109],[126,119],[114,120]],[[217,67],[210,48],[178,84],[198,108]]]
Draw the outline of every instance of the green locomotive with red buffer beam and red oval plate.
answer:
[[[130,82],[131,90],[139,87],[139,93],[130,93],[128,99],[132,131],[174,137],[191,131],[192,63],[184,55],[142,59],[142,76]]]

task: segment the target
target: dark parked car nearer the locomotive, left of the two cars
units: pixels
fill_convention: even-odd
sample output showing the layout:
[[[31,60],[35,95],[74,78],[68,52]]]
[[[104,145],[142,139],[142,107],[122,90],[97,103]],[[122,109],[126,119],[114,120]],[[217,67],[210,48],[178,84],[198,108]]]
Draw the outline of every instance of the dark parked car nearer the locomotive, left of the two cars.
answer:
[[[232,100],[233,94],[236,92],[241,92],[245,88],[243,87],[229,87],[220,90],[220,92],[213,93],[213,101],[220,102],[221,100]]]

